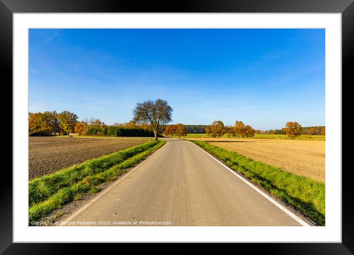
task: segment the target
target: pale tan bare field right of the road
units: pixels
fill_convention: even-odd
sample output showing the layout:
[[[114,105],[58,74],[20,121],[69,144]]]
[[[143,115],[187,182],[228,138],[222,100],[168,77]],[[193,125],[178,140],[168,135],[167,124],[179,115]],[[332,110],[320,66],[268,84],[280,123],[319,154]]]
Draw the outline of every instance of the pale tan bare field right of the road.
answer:
[[[325,182],[325,141],[206,137],[202,140],[282,170]]]

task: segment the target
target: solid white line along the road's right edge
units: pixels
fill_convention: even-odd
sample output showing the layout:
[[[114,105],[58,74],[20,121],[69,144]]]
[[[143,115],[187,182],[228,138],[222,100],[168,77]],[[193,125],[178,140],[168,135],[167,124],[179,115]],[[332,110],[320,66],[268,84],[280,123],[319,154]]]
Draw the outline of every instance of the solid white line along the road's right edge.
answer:
[[[310,224],[308,224],[307,222],[305,222],[303,219],[301,219],[300,217],[296,216],[294,213],[290,212],[289,209],[285,208],[283,205],[279,204],[278,202],[276,202],[273,198],[269,197],[266,193],[264,193],[262,190],[260,190],[257,186],[255,186],[254,184],[252,184],[251,182],[249,182],[248,180],[246,180],[245,178],[243,178],[242,176],[240,176],[238,173],[236,173],[234,170],[232,170],[231,168],[229,168],[228,166],[226,166],[225,164],[223,164],[220,160],[216,159],[214,156],[212,156],[211,154],[209,154],[208,152],[206,152],[205,150],[203,150],[202,148],[200,148],[198,145],[196,145],[195,143],[191,142],[192,144],[194,144],[195,146],[197,146],[199,149],[201,149],[202,151],[204,151],[206,154],[208,154],[212,159],[214,159],[216,162],[218,162],[221,166],[223,166],[225,169],[229,170],[230,172],[232,172],[234,175],[236,175],[238,178],[240,178],[242,181],[244,181],[247,185],[249,185],[251,188],[253,188],[254,190],[256,190],[258,193],[260,193],[262,196],[264,196],[270,203],[272,203],[273,205],[275,205],[277,208],[279,208],[281,211],[283,211],[284,213],[288,214],[290,217],[292,217],[294,220],[296,220],[297,222],[299,222],[302,226],[310,226]]]

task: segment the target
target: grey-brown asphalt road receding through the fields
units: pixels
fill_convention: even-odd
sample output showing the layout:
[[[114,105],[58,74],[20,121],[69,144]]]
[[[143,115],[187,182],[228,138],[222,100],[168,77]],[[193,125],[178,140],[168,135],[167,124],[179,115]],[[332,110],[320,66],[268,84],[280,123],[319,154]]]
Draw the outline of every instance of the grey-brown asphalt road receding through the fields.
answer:
[[[196,145],[167,140],[160,150],[62,221],[107,226],[306,225]]]

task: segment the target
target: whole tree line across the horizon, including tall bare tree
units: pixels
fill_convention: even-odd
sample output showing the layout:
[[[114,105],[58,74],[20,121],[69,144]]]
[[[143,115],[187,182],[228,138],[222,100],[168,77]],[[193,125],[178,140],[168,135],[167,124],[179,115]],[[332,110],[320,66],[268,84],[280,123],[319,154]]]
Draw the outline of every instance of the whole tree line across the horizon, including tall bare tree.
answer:
[[[255,133],[285,134],[290,138],[301,134],[325,134],[325,127],[301,127],[297,122],[287,122],[282,129],[269,131],[255,130],[242,121],[236,121],[234,126],[225,126],[222,121],[214,121],[211,125],[165,125],[172,121],[171,106],[167,101],[157,99],[137,103],[133,110],[133,121],[129,123],[107,126],[99,119],[87,118],[81,122],[78,116],[69,111],[58,113],[57,111],[45,111],[43,113],[29,113],[29,135],[51,135],[54,133],[69,134],[71,132],[79,135],[102,135],[102,136],[153,136],[155,140],[164,133],[165,135],[185,136],[187,133],[204,132],[212,137],[253,137]],[[191,131],[193,130],[193,131]]]

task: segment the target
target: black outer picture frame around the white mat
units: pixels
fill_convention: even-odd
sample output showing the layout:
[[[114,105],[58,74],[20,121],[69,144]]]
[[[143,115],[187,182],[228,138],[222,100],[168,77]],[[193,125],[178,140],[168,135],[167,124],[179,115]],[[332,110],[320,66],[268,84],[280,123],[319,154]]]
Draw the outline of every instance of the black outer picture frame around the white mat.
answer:
[[[12,20],[13,13],[43,12],[275,12],[275,13],[342,13],[342,95],[354,85],[354,2],[353,0],[171,0],[141,1],[125,0],[0,0],[0,65],[2,80],[12,85]],[[5,78],[5,79],[4,79]],[[7,78],[7,79],[6,79]],[[5,83],[3,83],[5,85]],[[344,93],[343,93],[344,91]],[[347,92],[347,93],[346,93]],[[343,98],[343,97],[342,97]],[[342,117],[350,107],[343,105]],[[343,119],[345,121],[345,119]],[[342,121],[342,127],[345,127]],[[350,129],[350,130],[353,130]],[[13,134],[14,135],[14,134]],[[338,137],[342,139],[342,137]],[[342,145],[345,142],[342,139]],[[13,151],[15,152],[15,151]],[[342,159],[350,158],[350,150],[342,149]],[[347,155],[348,157],[343,157]],[[343,168],[343,167],[342,167]],[[259,251],[266,254],[353,254],[354,253],[354,216],[353,192],[350,178],[351,168],[342,170],[342,243],[288,243],[288,244],[237,244],[239,248]],[[12,241],[12,174],[1,184],[0,192],[0,253],[3,254],[61,254],[75,248],[89,253],[109,251],[108,248],[124,244],[41,244],[13,243]],[[109,247],[108,247],[109,246]],[[123,247],[122,247],[123,246]],[[144,251],[153,244],[144,245]],[[185,244],[174,244],[170,254],[182,253]],[[114,248],[114,247],[113,247]],[[204,245],[203,249],[212,251]],[[232,248],[234,249],[234,248]],[[241,251],[241,250],[240,250]]]

